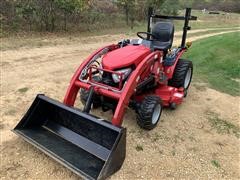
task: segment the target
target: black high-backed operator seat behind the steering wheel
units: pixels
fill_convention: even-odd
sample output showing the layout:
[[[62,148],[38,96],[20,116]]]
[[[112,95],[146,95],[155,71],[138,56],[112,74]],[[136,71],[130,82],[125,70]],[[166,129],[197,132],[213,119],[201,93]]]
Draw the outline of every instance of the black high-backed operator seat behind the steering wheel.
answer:
[[[153,48],[166,52],[172,47],[174,37],[174,25],[172,22],[158,22],[152,29]]]

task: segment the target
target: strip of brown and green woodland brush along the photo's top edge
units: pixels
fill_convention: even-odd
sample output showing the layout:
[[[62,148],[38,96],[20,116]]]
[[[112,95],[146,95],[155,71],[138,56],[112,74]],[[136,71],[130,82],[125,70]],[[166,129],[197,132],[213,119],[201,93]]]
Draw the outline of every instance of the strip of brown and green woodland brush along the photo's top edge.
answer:
[[[133,28],[145,21],[149,6],[168,15],[185,7],[240,12],[238,0],[1,0],[1,34]]]

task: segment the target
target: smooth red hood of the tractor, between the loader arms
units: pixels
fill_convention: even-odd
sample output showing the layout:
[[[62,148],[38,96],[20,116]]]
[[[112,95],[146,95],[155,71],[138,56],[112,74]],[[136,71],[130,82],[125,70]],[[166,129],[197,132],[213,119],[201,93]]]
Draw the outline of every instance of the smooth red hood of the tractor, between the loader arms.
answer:
[[[137,66],[150,53],[151,50],[145,46],[128,45],[105,54],[102,65],[108,70]]]

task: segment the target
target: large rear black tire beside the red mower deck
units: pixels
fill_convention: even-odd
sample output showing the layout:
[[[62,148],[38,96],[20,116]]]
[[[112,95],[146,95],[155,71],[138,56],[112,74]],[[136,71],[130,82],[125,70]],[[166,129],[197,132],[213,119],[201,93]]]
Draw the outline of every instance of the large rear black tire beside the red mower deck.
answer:
[[[188,75],[189,69],[191,69],[190,77]],[[191,84],[192,74],[193,74],[192,62],[189,60],[179,59],[175,67],[173,77],[172,79],[169,80],[168,84],[176,88],[183,87],[184,91],[186,92],[185,94],[187,94],[187,89]],[[189,78],[189,82],[187,81],[188,83],[185,83],[186,78]]]

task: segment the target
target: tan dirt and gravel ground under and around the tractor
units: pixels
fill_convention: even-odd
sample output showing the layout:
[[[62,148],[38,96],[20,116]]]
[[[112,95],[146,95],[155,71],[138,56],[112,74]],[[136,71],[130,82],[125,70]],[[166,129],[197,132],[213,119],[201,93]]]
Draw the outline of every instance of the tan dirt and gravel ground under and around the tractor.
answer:
[[[97,36],[68,45],[1,52],[1,179],[78,179],[10,130],[37,93],[62,101],[82,60],[102,45],[124,37]],[[175,111],[165,109],[162,122],[152,131],[141,130],[128,110],[123,123],[127,127],[127,156],[122,169],[110,179],[239,179],[239,134],[231,128],[219,133],[217,124],[222,123],[220,130],[225,128],[223,122],[239,126],[239,102],[240,97],[193,82],[184,103]],[[111,117],[98,110],[94,113]]]

